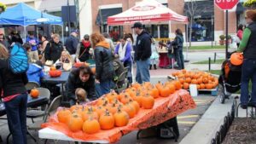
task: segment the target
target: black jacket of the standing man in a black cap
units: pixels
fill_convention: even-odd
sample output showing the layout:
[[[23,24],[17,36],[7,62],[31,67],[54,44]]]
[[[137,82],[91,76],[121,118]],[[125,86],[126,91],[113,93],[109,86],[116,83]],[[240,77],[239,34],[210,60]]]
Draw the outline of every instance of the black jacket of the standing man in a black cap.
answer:
[[[137,36],[134,59],[147,60],[151,56],[151,36],[143,32]]]

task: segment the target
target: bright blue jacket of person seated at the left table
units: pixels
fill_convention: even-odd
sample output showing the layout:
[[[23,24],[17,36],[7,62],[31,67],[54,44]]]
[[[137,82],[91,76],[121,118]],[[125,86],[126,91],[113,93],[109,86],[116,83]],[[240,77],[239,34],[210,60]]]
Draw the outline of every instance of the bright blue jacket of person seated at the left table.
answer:
[[[26,76],[29,82],[37,82],[40,84],[40,79],[44,78],[43,68],[37,64],[29,64]]]

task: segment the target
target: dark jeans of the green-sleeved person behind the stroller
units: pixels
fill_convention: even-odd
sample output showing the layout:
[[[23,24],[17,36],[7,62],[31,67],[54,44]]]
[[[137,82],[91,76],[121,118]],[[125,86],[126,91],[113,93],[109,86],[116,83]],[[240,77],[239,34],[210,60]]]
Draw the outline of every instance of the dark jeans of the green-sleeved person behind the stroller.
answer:
[[[256,105],[256,60],[255,59],[246,59],[243,60],[241,66],[241,105],[247,105],[249,101],[249,81],[252,81],[252,94],[251,102],[253,105]]]

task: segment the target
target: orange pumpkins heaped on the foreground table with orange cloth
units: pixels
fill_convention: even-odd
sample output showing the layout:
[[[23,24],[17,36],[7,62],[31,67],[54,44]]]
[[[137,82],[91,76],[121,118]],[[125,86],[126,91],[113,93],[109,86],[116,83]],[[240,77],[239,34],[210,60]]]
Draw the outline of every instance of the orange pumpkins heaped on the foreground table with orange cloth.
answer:
[[[167,97],[181,87],[177,80],[155,85],[132,84],[119,95],[112,91],[90,106],[77,104],[63,108],[57,112],[58,121],[67,124],[73,132],[83,130],[86,134],[94,134],[99,130],[111,130],[127,125],[140,109],[153,108],[154,99]]]

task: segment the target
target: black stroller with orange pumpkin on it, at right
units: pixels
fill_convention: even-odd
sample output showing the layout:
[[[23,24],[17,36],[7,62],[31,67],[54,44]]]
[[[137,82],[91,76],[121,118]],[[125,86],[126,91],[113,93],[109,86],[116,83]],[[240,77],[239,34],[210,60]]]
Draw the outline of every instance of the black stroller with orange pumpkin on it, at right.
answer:
[[[229,99],[232,93],[241,87],[241,66],[234,66],[230,60],[224,60],[221,66],[221,73],[218,78],[218,97],[220,103]]]

